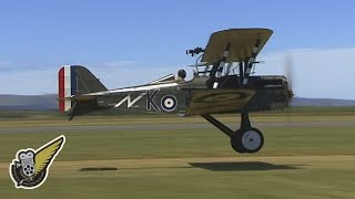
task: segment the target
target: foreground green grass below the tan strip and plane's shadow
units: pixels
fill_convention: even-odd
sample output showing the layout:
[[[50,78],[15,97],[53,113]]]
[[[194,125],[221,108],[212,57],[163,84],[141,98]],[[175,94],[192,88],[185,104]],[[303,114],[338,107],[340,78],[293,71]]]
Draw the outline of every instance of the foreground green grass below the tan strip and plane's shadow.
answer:
[[[199,168],[50,174],[34,190],[2,184],[13,198],[354,198],[354,174],[341,168],[211,171]]]

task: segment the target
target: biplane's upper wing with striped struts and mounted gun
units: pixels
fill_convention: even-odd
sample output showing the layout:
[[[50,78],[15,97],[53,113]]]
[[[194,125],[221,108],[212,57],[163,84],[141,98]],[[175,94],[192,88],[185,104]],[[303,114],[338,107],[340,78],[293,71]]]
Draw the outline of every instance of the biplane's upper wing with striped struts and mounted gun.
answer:
[[[205,49],[187,50],[196,56],[194,77],[205,77],[207,88],[246,87],[254,73],[256,55],[272,31],[268,29],[231,29],[211,35]],[[201,54],[200,54],[201,53]]]

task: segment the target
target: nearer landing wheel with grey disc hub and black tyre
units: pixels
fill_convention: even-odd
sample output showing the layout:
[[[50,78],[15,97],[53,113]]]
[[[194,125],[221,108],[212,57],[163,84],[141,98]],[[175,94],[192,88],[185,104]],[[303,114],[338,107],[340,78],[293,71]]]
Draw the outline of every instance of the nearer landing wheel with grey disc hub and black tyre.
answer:
[[[241,144],[246,153],[254,154],[263,148],[264,136],[257,128],[251,128],[242,133]]]

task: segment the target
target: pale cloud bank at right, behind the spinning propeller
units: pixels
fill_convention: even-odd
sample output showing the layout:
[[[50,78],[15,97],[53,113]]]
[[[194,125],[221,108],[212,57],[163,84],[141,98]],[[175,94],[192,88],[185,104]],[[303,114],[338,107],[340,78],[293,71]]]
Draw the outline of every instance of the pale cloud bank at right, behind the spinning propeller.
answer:
[[[297,96],[355,100],[355,48],[297,49],[266,53],[258,74],[285,74],[285,59],[293,60],[293,88]]]

